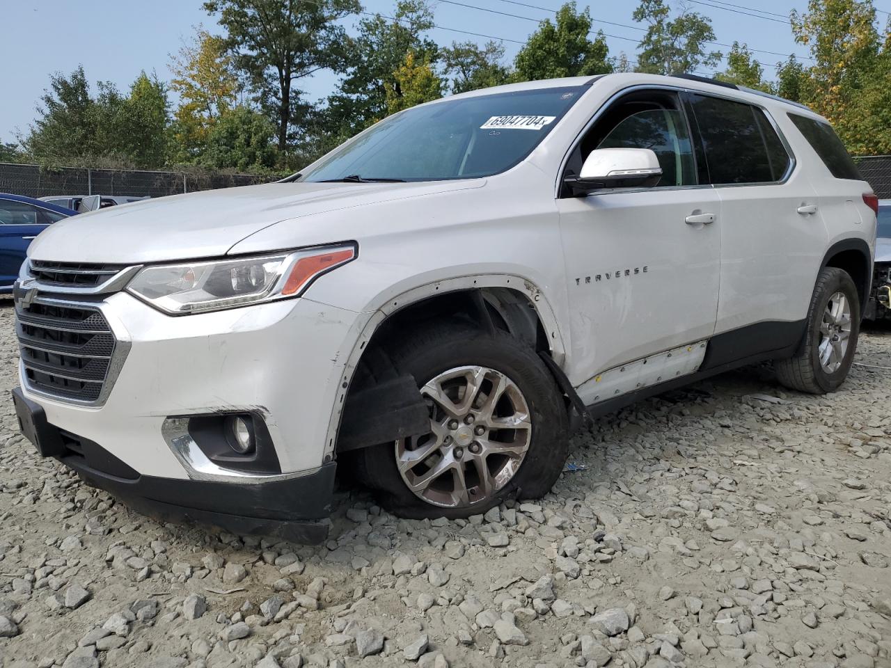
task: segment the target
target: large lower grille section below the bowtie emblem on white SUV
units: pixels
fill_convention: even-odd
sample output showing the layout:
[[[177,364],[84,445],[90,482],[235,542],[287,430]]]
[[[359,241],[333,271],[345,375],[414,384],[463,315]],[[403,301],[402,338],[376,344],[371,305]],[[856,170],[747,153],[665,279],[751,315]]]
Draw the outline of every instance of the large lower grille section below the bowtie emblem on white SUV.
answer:
[[[118,342],[89,303],[37,300],[16,305],[21,362],[29,387],[61,399],[97,403]]]

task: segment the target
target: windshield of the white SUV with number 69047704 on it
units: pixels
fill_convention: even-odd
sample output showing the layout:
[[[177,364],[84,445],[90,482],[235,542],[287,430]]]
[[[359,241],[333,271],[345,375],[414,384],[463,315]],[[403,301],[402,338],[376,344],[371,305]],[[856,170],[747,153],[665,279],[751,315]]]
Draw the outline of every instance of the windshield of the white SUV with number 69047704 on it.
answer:
[[[438,181],[498,174],[526,158],[586,88],[481,95],[405,110],[332,151],[300,181]]]

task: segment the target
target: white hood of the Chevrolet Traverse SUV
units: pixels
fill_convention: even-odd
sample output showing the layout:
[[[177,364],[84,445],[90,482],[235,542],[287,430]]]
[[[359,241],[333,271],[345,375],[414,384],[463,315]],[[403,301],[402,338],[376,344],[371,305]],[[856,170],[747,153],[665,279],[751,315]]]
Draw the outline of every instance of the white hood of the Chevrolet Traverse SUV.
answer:
[[[72,216],[39,234],[28,255],[37,260],[117,265],[223,256],[251,234],[293,218],[301,219],[294,247],[327,243],[346,237],[327,238],[326,228],[314,225],[314,214],[479,185],[478,181],[266,183],[192,192]]]

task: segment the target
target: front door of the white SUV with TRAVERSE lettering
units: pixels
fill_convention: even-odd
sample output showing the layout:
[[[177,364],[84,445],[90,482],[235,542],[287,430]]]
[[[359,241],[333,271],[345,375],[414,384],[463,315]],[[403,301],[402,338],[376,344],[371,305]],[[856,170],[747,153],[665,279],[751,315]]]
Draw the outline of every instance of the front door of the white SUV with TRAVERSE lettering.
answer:
[[[699,185],[677,94],[635,91],[610,105],[570,156],[568,173],[597,148],[651,149],[663,175],[653,188],[564,192],[558,200],[571,312],[567,371],[586,403],[612,398],[599,394],[598,374],[712,336],[721,256],[720,201]]]

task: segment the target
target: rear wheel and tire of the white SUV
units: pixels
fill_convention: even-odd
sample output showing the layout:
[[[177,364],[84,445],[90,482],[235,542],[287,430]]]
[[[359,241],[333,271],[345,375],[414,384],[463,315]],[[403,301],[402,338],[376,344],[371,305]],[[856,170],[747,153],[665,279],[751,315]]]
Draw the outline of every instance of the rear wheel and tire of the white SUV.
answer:
[[[841,330],[837,322],[830,322],[833,309],[838,311],[838,295],[845,297],[849,317]],[[828,311],[829,310],[829,311]],[[844,309],[841,309],[844,311]],[[841,318],[843,322],[845,318]],[[851,276],[836,267],[824,267],[817,277],[813,289],[811,306],[807,313],[807,329],[805,339],[797,354],[787,360],[774,363],[777,379],[785,387],[812,395],[835,392],[845,382],[851,364],[854,362],[854,351],[857,337],[860,334],[860,297]],[[846,341],[844,352],[835,356],[830,363],[821,361],[827,339],[838,336]]]

